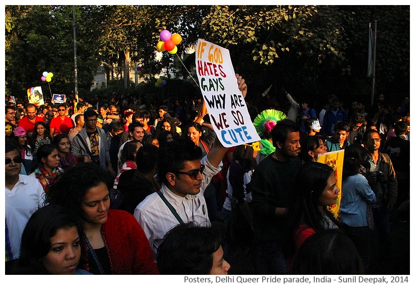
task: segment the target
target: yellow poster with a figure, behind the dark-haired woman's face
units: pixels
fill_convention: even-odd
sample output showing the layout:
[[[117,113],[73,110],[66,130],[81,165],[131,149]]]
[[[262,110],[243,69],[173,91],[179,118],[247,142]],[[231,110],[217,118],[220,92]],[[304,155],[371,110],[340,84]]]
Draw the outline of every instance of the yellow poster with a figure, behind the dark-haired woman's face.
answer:
[[[333,213],[336,219],[339,217],[340,202],[342,200],[343,159],[344,149],[326,152],[317,157],[317,162],[328,165],[329,167],[333,168],[333,171],[335,172],[337,187],[339,187],[340,192],[335,205],[328,206],[327,208],[331,213]]]

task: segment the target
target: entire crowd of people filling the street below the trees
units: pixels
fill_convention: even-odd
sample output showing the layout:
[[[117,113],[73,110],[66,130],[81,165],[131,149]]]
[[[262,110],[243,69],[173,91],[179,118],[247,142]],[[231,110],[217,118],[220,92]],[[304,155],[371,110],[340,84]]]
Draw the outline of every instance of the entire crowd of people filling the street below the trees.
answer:
[[[227,274],[238,249],[255,274],[370,273],[370,231],[388,259],[391,213],[409,219],[408,98],[281,92],[279,110],[246,98],[261,141],[231,148],[200,96],[8,102],[6,274]],[[341,190],[317,162],[336,150]]]

